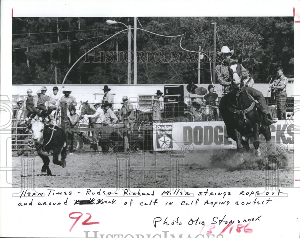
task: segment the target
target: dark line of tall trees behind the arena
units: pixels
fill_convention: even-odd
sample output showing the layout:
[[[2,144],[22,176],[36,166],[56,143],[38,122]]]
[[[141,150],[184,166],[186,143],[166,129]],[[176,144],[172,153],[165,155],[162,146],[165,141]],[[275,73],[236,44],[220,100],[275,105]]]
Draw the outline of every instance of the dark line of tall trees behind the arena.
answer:
[[[119,31],[70,71],[65,84],[127,84],[128,31],[133,17],[113,17],[123,24],[108,25],[102,17],[26,17],[12,19],[12,84],[62,83],[74,62],[87,50]],[[294,77],[294,23],[292,17],[138,17],[137,83],[197,83],[199,46],[200,83],[211,82],[210,60],[216,49],[234,49],[232,58],[243,57],[256,83],[268,83],[283,67]],[[133,51],[131,30],[131,51]],[[181,37],[178,36],[184,34]],[[185,51],[190,50],[191,52]],[[94,56],[93,56],[94,54]],[[131,57],[133,58],[133,57]],[[131,64],[133,83],[133,63]]]

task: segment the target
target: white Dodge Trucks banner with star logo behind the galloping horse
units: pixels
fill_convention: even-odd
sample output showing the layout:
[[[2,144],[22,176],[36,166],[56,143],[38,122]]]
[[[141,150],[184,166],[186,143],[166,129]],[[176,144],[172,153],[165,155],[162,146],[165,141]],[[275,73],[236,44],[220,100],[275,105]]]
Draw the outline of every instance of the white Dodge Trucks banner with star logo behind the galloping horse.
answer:
[[[294,148],[294,127],[280,120],[270,126],[271,142]],[[265,141],[260,135],[261,141]],[[253,144],[252,141],[249,141]],[[223,121],[161,123],[153,126],[153,147],[157,151],[234,149]]]

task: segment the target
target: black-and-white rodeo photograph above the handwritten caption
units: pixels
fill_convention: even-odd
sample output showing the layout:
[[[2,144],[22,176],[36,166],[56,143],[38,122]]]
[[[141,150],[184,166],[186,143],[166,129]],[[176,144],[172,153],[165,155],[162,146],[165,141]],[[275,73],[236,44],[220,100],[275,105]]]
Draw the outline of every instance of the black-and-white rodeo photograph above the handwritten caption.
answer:
[[[13,162],[54,187],[293,186],[292,17],[13,18],[12,88]]]

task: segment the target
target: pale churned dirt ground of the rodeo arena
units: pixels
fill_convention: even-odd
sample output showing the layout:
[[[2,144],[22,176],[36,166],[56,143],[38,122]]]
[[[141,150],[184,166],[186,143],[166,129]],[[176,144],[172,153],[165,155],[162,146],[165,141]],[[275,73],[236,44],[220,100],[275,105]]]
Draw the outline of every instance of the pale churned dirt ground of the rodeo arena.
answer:
[[[24,156],[12,157],[12,166],[21,167],[22,158],[26,159]],[[112,188],[117,186],[117,181],[122,182],[128,173],[130,180],[127,181],[130,187],[170,188],[173,181],[170,172],[171,158],[182,159],[183,156],[179,152],[137,152],[129,155],[120,152],[116,155],[68,151],[65,168],[54,165],[50,156],[49,168],[53,176],[46,176],[41,174],[42,159],[35,156],[35,187]],[[291,168],[294,164],[293,151],[285,151],[274,158],[279,161],[278,168],[268,163],[268,168],[271,169],[265,169],[265,156],[255,157],[253,151],[240,154],[235,150],[198,150],[185,154],[183,169],[180,166],[176,167],[175,162],[176,169],[173,171],[175,177],[184,177],[186,188],[264,187],[274,176],[279,179],[278,186],[294,186]],[[127,159],[130,170],[120,169],[122,159]],[[121,167],[116,166],[117,161]],[[143,171],[143,167],[148,167],[148,171]],[[13,171],[12,183],[21,186],[21,176],[21,171]]]

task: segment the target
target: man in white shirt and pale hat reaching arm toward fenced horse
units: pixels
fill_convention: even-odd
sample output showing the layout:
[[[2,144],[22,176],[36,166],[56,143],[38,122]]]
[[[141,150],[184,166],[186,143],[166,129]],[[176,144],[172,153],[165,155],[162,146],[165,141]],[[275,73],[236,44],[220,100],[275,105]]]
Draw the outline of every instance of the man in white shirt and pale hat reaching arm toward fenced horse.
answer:
[[[96,112],[93,115],[84,115],[87,118],[95,118],[95,130],[93,132],[93,142],[91,143],[91,149],[96,151],[102,151],[102,149],[98,149],[98,135],[99,130],[103,126],[103,122],[106,119],[100,104],[101,102],[99,102],[98,100],[94,100],[94,107],[96,109]]]

